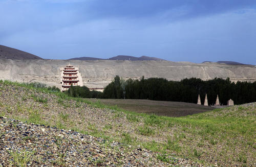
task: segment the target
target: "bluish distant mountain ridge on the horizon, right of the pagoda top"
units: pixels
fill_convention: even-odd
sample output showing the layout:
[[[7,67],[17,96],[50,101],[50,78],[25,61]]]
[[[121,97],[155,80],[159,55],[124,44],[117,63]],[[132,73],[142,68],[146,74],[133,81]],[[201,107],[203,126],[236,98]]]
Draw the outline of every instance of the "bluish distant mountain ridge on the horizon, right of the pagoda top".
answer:
[[[134,57],[134,56],[118,55],[115,57],[111,57],[109,59],[100,59],[100,58],[94,58],[94,57],[77,57],[77,58],[71,58],[68,60],[131,60],[131,61],[155,60],[155,61],[161,61],[164,59],[160,59],[160,58],[156,58],[156,57],[148,57],[148,56]]]

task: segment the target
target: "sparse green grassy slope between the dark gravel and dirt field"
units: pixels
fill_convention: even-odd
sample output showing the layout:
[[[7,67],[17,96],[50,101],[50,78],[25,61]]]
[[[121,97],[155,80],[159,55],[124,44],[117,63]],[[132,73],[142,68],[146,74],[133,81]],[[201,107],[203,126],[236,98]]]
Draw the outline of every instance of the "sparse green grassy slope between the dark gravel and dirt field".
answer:
[[[20,87],[22,86],[22,87]],[[0,83],[0,115],[221,166],[255,165],[255,104],[184,117],[138,114],[24,84]],[[9,99],[9,100],[8,100]]]

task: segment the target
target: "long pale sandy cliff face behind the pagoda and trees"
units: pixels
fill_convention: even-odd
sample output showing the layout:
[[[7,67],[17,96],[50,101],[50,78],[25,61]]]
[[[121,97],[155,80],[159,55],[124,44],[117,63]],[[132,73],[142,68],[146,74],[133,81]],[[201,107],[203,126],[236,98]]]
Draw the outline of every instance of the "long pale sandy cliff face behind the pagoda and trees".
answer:
[[[60,87],[59,68],[79,66],[83,85],[103,88],[116,75],[124,79],[159,77],[179,81],[184,78],[209,80],[230,78],[231,81],[256,81],[256,66],[218,63],[195,64],[171,61],[116,60],[7,60],[0,59],[0,79],[18,82],[42,82]]]

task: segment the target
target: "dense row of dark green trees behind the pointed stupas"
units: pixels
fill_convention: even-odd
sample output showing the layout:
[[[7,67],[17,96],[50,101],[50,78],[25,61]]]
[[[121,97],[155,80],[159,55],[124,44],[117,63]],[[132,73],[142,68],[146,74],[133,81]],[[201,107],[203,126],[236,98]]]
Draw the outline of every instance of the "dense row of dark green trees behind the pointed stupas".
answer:
[[[226,105],[229,99],[234,104],[244,104],[256,101],[256,82],[231,82],[215,78],[202,81],[197,78],[181,81],[168,81],[163,78],[142,77],[140,80],[124,81],[119,76],[104,88],[103,93],[90,91],[87,87],[72,86],[68,93],[73,97],[105,98],[105,99],[150,99],[161,101],[176,101],[197,103],[198,94],[204,103],[207,93],[208,104],[215,104],[217,94],[221,104]]]

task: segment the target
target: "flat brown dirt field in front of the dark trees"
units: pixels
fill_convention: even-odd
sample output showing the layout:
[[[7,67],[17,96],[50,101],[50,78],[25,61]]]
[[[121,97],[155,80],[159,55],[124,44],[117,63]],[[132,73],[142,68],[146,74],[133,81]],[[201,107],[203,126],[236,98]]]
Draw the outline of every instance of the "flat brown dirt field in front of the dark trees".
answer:
[[[168,102],[141,99],[87,99],[91,102],[100,101],[103,104],[115,106],[129,111],[139,113],[156,114],[161,116],[185,116],[205,111],[211,111],[214,108],[194,103]]]

